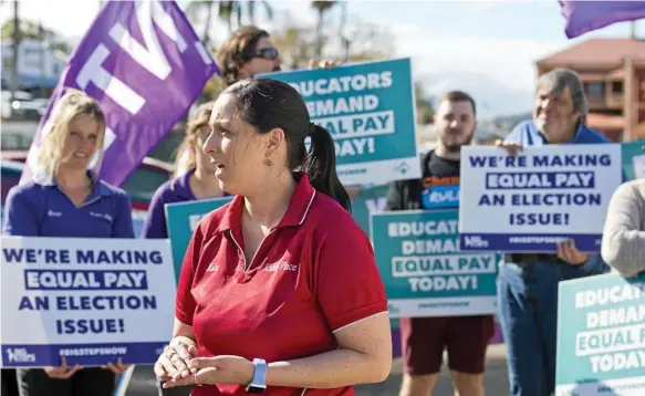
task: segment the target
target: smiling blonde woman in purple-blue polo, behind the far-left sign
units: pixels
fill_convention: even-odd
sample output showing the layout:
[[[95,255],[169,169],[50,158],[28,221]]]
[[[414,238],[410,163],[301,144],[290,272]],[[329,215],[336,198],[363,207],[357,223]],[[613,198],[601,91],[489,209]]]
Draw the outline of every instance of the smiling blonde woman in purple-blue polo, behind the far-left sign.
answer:
[[[134,238],[132,209],[125,192],[89,170],[103,147],[105,117],[92,97],[70,90],[58,102],[38,153],[31,181],[8,196],[3,232],[23,237]],[[100,213],[101,216],[96,216]],[[126,367],[20,368],[21,396],[111,396],[116,374]]]

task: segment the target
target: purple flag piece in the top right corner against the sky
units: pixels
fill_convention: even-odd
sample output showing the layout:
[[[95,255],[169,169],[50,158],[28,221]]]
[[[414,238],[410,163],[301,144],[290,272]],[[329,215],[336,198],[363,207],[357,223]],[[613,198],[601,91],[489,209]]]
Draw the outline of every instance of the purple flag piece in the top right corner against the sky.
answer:
[[[559,0],[566,20],[569,39],[615,22],[645,18],[645,1],[572,1]]]

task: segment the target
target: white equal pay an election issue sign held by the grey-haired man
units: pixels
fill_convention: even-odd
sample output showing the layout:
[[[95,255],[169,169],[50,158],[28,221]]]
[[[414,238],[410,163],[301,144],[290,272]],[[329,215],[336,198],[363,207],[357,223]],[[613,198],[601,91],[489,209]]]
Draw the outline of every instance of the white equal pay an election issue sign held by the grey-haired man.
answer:
[[[464,147],[461,250],[554,252],[573,239],[600,251],[607,204],[622,183],[618,144]]]

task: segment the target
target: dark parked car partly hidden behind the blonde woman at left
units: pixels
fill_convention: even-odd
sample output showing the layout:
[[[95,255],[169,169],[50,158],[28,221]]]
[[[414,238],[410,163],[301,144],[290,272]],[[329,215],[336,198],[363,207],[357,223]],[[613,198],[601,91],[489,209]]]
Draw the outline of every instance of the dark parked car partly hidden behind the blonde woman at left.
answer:
[[[28,152],[7,150],[2,152],[0,161],[0,177],[2,180],[2,207],[9,189],[20,181]],[[173,166],[162,160],[145,157],[143,163],[135,169],[125,183],[121,186],[129,196],[133,208],[133,222],[135,235],[139,235],[145,216],[153,199],[155,190],[164,184],[173,174]]]

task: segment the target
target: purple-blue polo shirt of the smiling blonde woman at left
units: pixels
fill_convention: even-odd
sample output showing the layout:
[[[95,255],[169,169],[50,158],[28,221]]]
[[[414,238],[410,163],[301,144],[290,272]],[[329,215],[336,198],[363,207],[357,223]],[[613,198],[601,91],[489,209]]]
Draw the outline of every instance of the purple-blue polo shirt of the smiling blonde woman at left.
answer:
[[[132,207],[124,190],[96,179],[83,205],[74,202],[55,180],[35,177],[7,195],[2,232],[22,237],[134,238]]]

